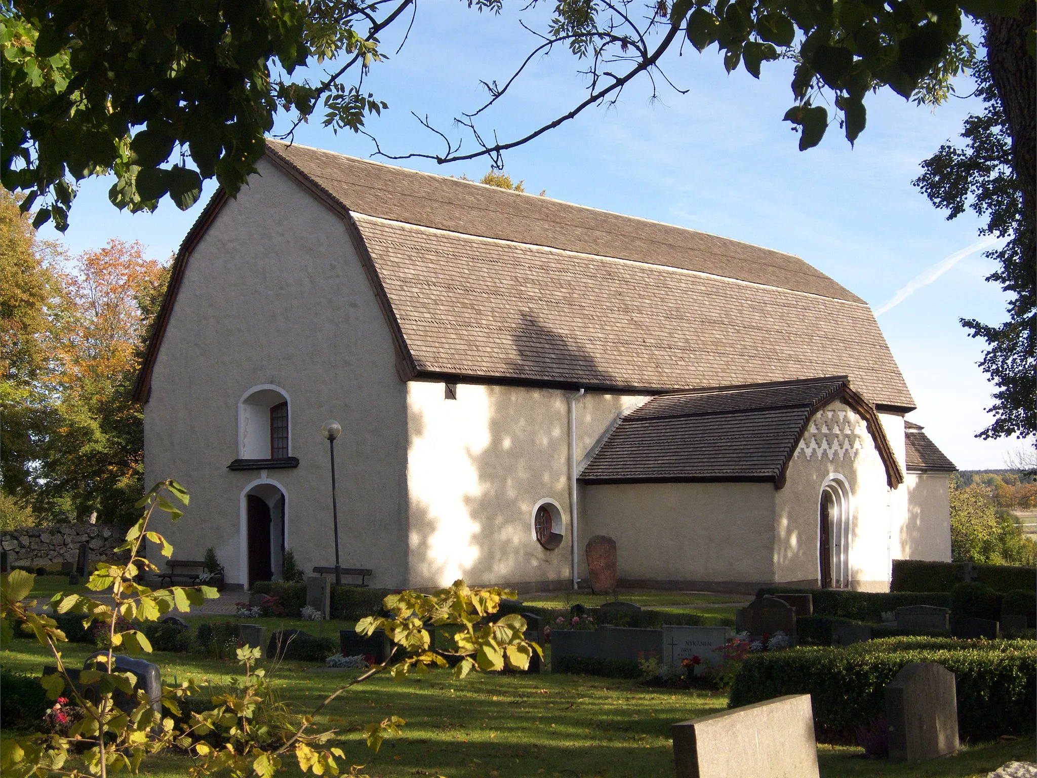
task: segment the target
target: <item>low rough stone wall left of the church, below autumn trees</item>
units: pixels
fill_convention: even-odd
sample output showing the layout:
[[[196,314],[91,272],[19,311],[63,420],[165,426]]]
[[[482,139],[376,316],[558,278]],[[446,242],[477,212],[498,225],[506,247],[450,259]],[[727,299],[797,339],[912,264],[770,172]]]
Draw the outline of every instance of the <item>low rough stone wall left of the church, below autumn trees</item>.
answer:
[[[122,556],[115,553],[122,540],[122,532],[103,524],[56,524],[0,532],[0,548],[7,552],[11,566],[75,563],[81,543],[89,546],[91,564],[100,560],[114,561]]]

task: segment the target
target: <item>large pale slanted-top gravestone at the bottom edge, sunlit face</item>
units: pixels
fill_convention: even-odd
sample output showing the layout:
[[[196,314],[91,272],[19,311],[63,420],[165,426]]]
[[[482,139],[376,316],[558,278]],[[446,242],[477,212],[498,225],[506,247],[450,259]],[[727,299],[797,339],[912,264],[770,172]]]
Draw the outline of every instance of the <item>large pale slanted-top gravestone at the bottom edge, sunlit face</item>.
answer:
[[[818,778],[809,694],[674,724],[677,778]]]

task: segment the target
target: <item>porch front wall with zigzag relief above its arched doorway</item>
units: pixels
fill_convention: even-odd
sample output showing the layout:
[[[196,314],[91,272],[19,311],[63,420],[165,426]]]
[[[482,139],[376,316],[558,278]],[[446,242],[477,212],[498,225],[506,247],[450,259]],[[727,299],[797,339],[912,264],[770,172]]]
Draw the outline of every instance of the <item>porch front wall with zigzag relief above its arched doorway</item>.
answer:
[[[882,421],[887,426],[895,423]],[[900,423],[902,426],[902,419]],[[896,450],[896,438],[891,443]],[[866,422],[842,402],[832,402],[811,418],[789,463],[785,487],[776,493],[776,580],[820,583],[821,491],[835,479],[845,483],[849,498],[849,526],[844,536],[849,548],[844,553],[850,588],[888,590],[891,522],[896,526],[901,522],[892,511],[900,502],[897,492],[905,490],[890,490],[886,465]]]

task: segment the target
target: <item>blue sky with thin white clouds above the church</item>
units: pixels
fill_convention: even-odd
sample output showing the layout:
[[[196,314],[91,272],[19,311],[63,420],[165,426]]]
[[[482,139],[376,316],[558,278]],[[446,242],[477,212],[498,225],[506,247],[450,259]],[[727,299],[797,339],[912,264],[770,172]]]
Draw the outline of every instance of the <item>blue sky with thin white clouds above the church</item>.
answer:
[[[533,44],[517,19],[537,21],[507,10],[500,17],[479,15],[466,3],[445,0],[420,8],[402,51],[376,64],[366,81],[390,106],[368,124],[384,150],[441,150],[410,112],[427,114],[451,131],[455,115],[479,104],[479,79],[507,78]],[[396,45],[397,37],[387,36],[383,50],[392,53]],[[653,101],[643,80],[614,108],[589,109],[508,152],[505,169],[525,179],[531,192],[546,190],[557,199],[796,254],[875,310],[901,291],[902,301],[878,322],[919,406],[909,418],[924,424],[959,467],[1003,467],[1005,452],[1019,443],[974,438],[989,423],[984,409],[991,387],[977,366],[981,343],[958,318],[999,323],[1005,298],[983,280],[994,267],[982,251],[948,260],[977,243],[978,220],[963,215],[946,221],[910,184],[919,162],[957,137],[979,102],[952,99],[930,110],[887,90],[869,96],[868,127],[856,147],[833,127],[819,147],[801,152],[798,136],[781,121],[792,105],[786,64],[764,65],[757,81],[744,70],[727,75],[716,50],[700,55],[685,47],[665,66],[686,94],[660,82]],[[481,127],[512,138],[564,113],[583,95],[576,71],[573,59],[561,51],[537,61]],[[958,90],[969,94],[969,81]],[[362,157],[373,152],[368,139],[335,135],[318,122],[305,126],[296,140]],[[400,164],[470,177],[488,168],[479,160],[444,167],[427,160]],[[214,190],[207,185],[201,202],[186,213],[165,200],[153,215],[131,216],[108,203],[109,186],[99,179],[82,187],[62,239],[72,251],[120,238],[141,241],[157,258],[168,257]],[[853,337],[852,332],[826,335],[836,341]]]

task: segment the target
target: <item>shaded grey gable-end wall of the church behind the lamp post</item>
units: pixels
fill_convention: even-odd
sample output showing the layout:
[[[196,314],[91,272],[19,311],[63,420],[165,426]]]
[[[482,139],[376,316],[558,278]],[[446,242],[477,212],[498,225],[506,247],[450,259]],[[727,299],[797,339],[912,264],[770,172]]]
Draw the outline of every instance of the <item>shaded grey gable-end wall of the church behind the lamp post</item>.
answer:
[[[155,365],[145,480],[173,477],[191,493],[185,517],[160,529],[175,558],[213,546],[228,581],[244,583],[242,494],[262,473],[226,466],[240,454],[239,400],[272,384],[291,397],[300,460],[265,474],[287,496],[287,548],[307,572],[334,564],[319,430],[336,418],[342,564],[403,586],[407,392],[388,326],[342,221],[268,162],[258,168],[195,247]]]

